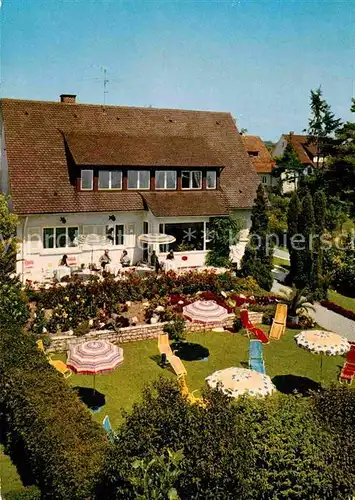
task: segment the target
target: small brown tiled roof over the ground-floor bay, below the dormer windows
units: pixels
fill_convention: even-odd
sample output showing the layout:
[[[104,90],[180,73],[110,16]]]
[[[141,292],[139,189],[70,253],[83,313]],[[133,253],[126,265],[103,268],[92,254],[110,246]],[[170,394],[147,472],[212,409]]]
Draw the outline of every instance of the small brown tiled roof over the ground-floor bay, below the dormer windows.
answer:
[[[227,200],[220,191],[141,194],[145,204],[156,217],[227,215],[229,212]]]

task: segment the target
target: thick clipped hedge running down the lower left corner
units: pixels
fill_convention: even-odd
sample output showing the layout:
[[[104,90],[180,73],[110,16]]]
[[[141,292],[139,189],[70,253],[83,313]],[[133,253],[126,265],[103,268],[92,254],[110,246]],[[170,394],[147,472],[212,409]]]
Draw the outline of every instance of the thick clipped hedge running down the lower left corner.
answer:
[[[34,336],[0,331],[0,419],[6,452],[41,498],[92,496],[105,432],[37,349]]]

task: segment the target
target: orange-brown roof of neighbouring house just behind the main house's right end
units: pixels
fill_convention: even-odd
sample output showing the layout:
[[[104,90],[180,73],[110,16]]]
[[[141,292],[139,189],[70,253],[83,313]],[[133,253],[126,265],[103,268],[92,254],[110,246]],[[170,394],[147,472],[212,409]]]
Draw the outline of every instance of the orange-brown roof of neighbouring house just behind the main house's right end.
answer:
[[[252,164],[264,186],[276,186],[277,179],[272,175],[275,160],[264,141],[257,135],[242,135],[243,143]]]

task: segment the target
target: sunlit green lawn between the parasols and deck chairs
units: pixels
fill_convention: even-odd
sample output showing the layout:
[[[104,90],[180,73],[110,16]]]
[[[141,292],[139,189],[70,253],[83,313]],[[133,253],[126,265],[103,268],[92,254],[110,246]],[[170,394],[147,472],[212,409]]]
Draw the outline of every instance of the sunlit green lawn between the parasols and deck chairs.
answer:
[[[296,375],[320,380],[320,358],[297,347],[294,341],[295,330],[288,330],[280,341],[272,341],[264,346],[266,372],[271,377],[276,375]],[[208,361],[185,361],[187,382],[190,391],[200,389],[205,384],[205,377],[215,370],[230,366],[246,366],[248,362],[248,339],[242,334],[225,333],[191,333],[190,342],[207,347],[210,351]],[[143,387],[159,375],[174,378],[168,369],[158,366],[157,341],[141,341],[123,344],[124,362],[114,372],[96,377],[96,388],[105,394],[105,407],[93,415],[102,422],[108,414],[113,427],[121,421],[121,410],[129,410],[132,404],[140,400]],[[65,355],[58,355],[65,361]],[[324,357],[323,384],[337,382],[341,357]],[[68,382],[72,386],[92,387],[93,377],[72,375]]]

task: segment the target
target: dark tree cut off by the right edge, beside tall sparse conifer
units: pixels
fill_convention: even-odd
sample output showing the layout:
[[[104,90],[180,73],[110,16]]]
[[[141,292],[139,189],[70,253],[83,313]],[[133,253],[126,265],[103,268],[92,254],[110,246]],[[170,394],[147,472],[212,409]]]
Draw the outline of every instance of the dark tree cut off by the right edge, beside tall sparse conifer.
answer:
[[[355,113],[355,99],[351,112]],[[355,216],[355,122],[346,122],[336,132],[335,154],[326,173],[328,192],[351,204]]]

